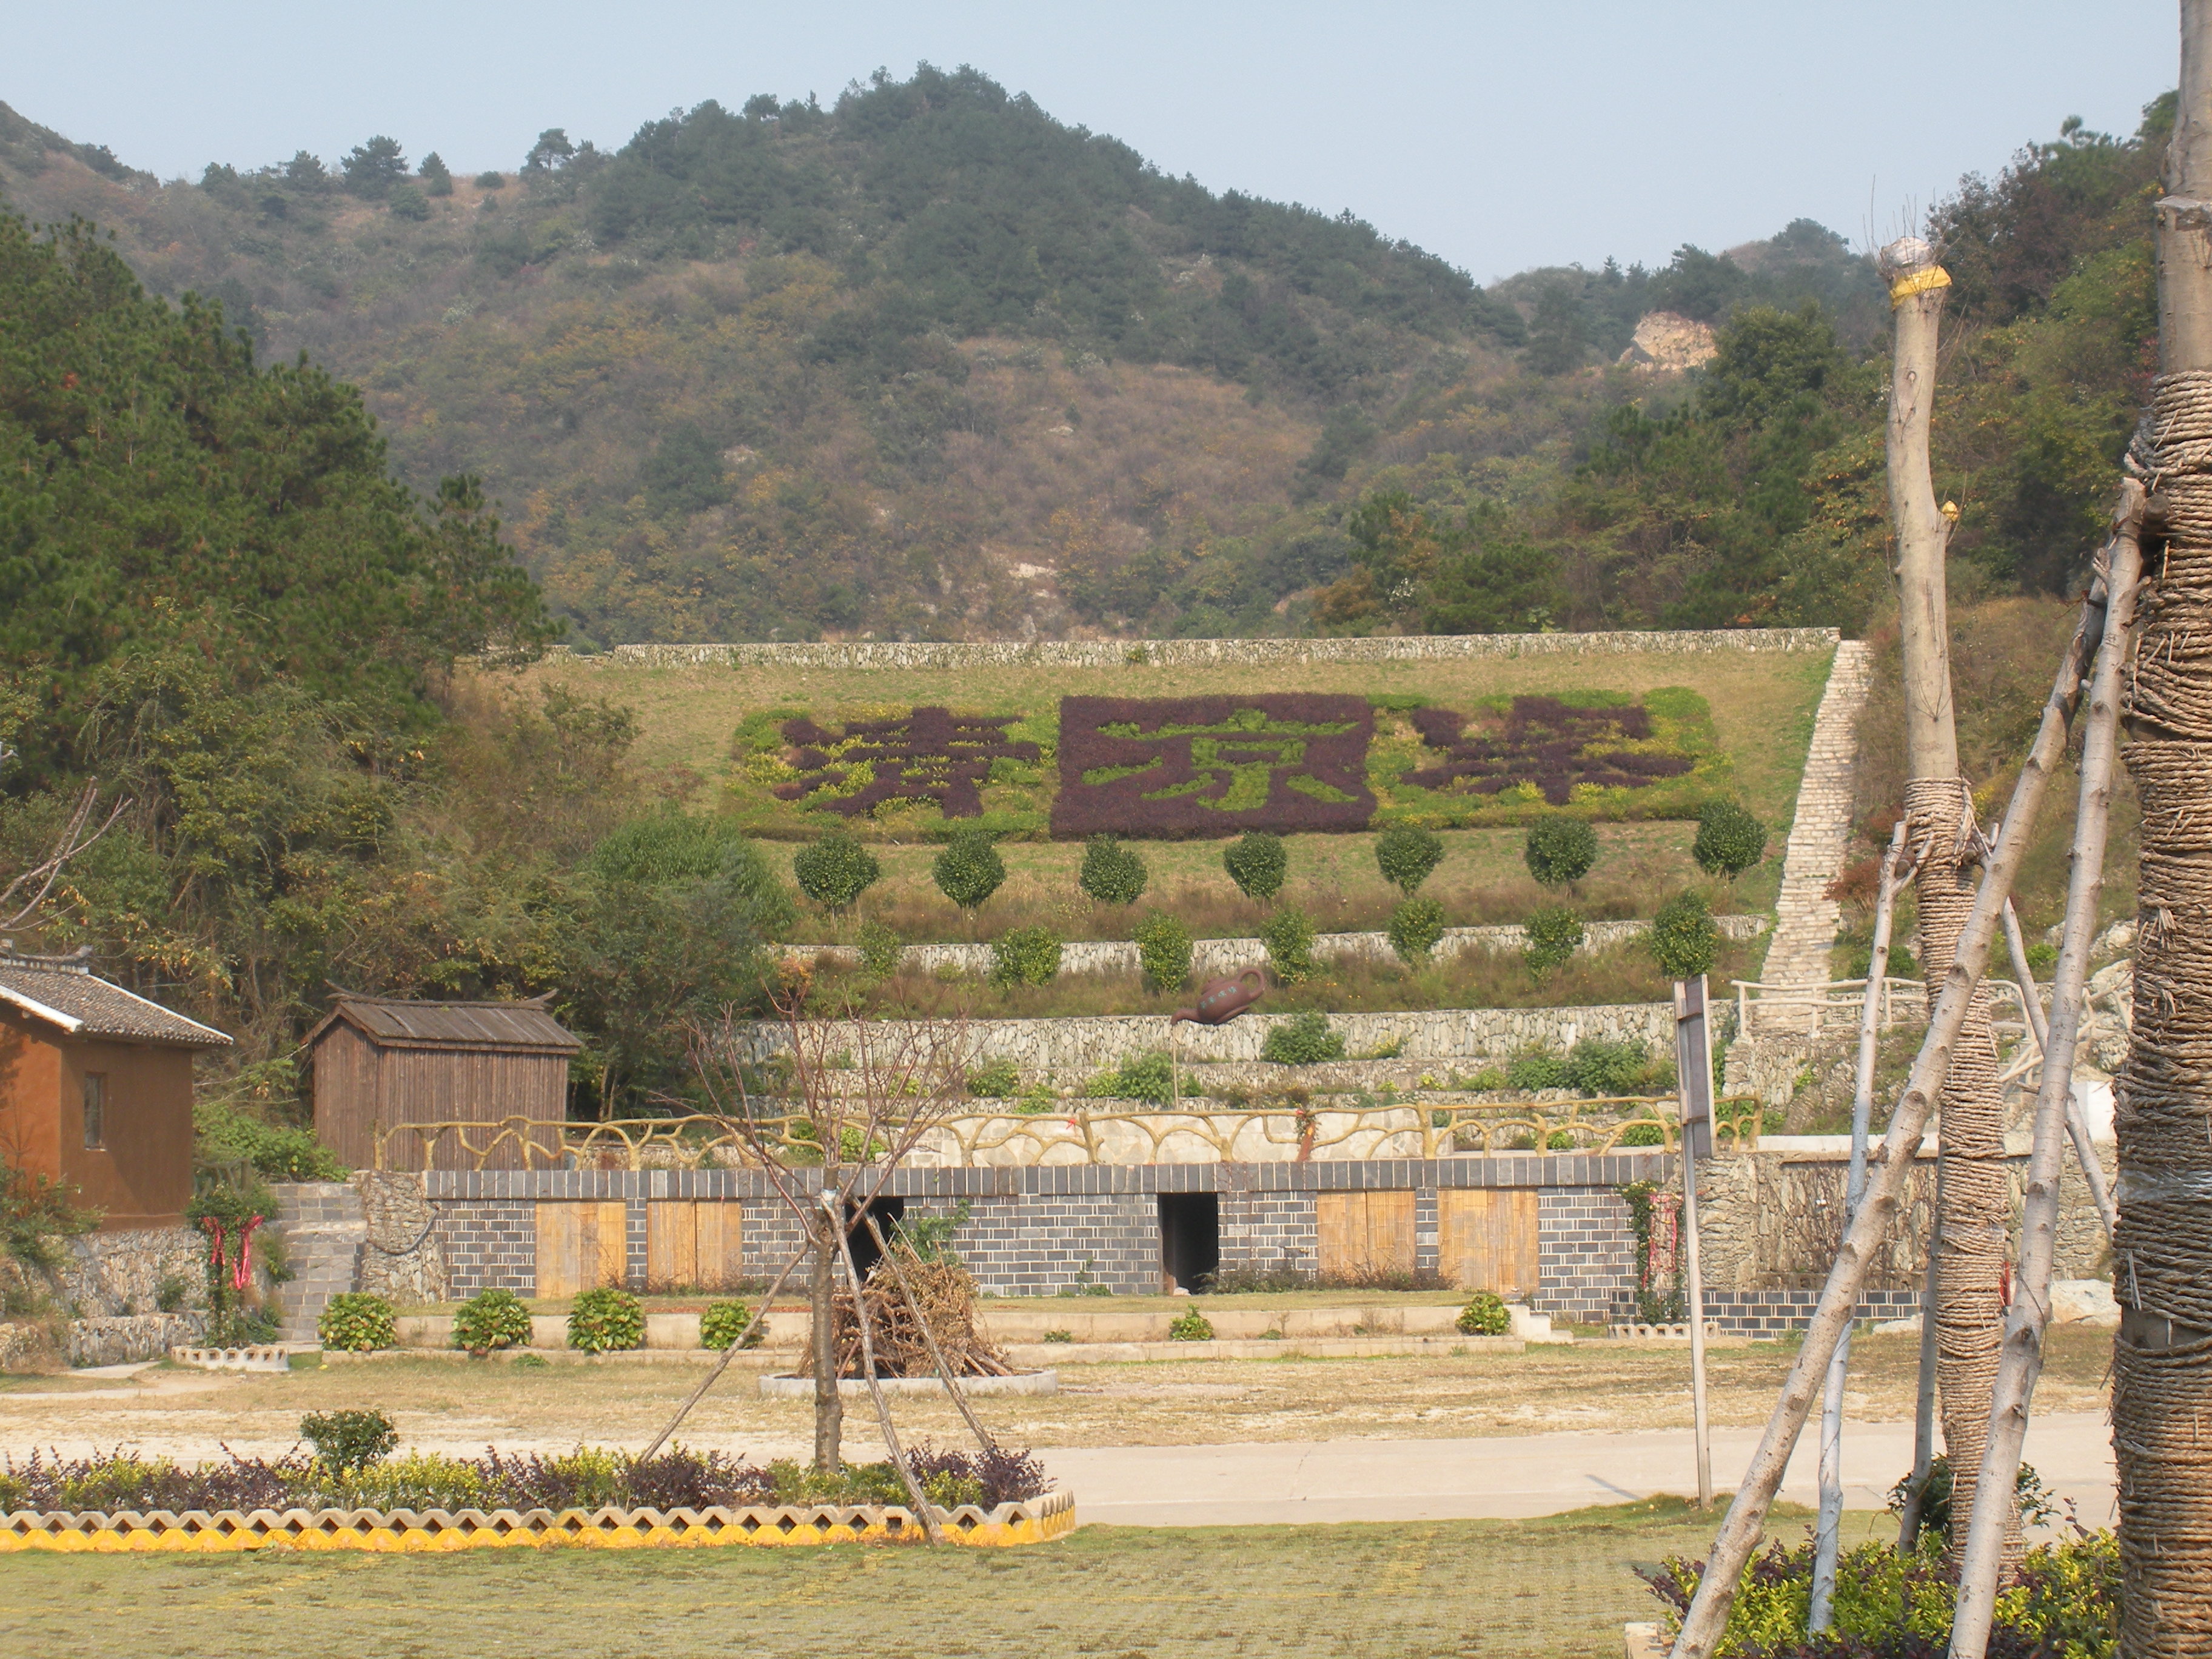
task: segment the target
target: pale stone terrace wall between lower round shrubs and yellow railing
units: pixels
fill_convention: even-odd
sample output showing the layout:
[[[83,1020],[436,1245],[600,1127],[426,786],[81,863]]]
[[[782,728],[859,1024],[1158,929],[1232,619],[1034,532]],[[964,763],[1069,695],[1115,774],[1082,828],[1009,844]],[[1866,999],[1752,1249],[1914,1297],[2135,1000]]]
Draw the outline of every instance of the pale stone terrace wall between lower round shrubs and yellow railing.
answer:
[[[1259,1062],[1267,1033],[1296,1015],[1248,1013],[1223,1026],[1177,1026],[1177,1048],[1186,1062]],[[1670,1002],[1613,1002],[1586,1009],[1427,1009],[1416,1013],[1336,1013],[1329,1029],[1345,1040],[1347,1055],[1374,1055],[1396,1046],[1400,1060],[1491,1062],[1511,1060],[1520,1048],[1573,1048],[1584,1037],[1641,1042],[1657,1053],[1674,1051],[1674,1006]],[[916,1042],[940,1026],[902,1020],[823,1022],[825,1055],[858,1055],[863,1044],[878,1053]],[[741,1060],[761,1062],[790,1048],[790,1031],[768,1022],[732,1026]],[[1079,1082],[1124,1060],[1166,1051],[1168,1015],[1113,1013],[1068,1020],[971,1020],[967,1024],[969,1066],[1011,1060],[1024,1073],[1066,1073]],[[1285,1079],[1290,1068],[1276,1068]]]

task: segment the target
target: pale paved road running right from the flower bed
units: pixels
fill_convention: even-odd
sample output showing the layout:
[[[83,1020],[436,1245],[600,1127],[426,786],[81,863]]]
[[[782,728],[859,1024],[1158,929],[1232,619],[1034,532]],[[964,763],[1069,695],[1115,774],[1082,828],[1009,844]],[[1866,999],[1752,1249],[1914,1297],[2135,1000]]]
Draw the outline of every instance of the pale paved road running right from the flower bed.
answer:
[[[1736,1489],[1756,1429],[1717,1429],[1712,1480]],[[1557,1515],[1652,1493],[1694,1493],[1690,1433],[1540,1433],[1482,1440],[1307,1440],[1234,1447],[1040,1451],[1086,1522],[1263,1526]],[[2028,1462],[2088,1526],[2112,1522],[2112,1440],[2101,1413],[2037,1418]],[[1851,1422],[1843,1442],[1847,1509],[1880,1509],[1913,1462],[1909,1422]],[[1812,1504],[1814,1438],[1790,1462],[1783,1498]]]

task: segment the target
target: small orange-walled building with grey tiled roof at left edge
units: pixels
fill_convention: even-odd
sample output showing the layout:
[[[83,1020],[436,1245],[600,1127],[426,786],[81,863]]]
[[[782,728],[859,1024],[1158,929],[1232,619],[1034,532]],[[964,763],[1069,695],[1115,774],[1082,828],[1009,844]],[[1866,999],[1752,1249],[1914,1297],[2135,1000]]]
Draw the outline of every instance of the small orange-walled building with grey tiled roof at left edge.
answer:
[[[0,951],[0,1159],[73,1186],[102,1232],[184,1225],[192,1055],[228,1046],[82,956]]]

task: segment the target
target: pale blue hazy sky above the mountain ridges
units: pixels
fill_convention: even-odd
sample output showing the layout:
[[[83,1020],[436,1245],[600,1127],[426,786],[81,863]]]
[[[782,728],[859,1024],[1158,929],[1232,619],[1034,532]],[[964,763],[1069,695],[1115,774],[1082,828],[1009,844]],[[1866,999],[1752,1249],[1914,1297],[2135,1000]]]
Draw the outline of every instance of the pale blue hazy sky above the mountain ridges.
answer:
[[[708,97],[827,104],[878,64],[967,62],[1168,173],[1352,208],[1484,281],[1801,215],[1887,239],[2066,115],[2132,131],[2177,64],[2174,0],[7,0],[0,22],[0,100],[164,177],[372,133],[511,168],[546,126],[615,148]]]

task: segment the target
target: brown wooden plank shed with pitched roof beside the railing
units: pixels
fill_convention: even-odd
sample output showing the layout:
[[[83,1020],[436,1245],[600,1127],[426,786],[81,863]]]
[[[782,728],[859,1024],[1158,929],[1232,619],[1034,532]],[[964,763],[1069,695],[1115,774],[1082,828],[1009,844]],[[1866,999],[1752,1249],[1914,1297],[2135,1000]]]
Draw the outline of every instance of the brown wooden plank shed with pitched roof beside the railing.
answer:
[[[560,1148],[568,1062],[584,1044],[533,1002],[405,1002],[341,993],[307,1033],[314,1057],[314,1133],[354,1168],[376,1164],[376,1133],[405,1124],[498,1124],[526,1117],[529,1139]],[[515,1170],[520,1141],[487,1128],[462,1135],[387,1135],[385,1168]],[[529,1157],[544,1166],[549,1159]]]

